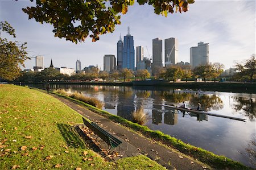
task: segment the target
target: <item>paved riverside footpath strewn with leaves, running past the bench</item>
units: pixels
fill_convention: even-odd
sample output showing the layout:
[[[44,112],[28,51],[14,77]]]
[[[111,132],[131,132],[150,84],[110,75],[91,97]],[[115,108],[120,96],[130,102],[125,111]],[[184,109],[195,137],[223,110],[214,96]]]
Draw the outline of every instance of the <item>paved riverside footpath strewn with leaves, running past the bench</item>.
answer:
[[[110,134],[117,136],[119,139],[125,140],[125,142],[131,144],[131,146],[134,146],[133,148],[137,148],[137,152],[146,154],[152,160],[156,160],[159,164],[163,165],[167,169],[206,169],[205,166],[207,165],[193,160],[191,157],[183,155],[179,151],[176,151],[170,147],[164,147],[154,142],[154,140],[129,131],[127,127],[120,126],[118,123],[114,123],[97,113],[93,113],[92,111],[69,99],[61,98],[54,94],[51,95],[71,107],[73,110],[77,111],[83,117],[89,118],[93,122],[96,122]],[[207,167],[210,168],[209,166]]]

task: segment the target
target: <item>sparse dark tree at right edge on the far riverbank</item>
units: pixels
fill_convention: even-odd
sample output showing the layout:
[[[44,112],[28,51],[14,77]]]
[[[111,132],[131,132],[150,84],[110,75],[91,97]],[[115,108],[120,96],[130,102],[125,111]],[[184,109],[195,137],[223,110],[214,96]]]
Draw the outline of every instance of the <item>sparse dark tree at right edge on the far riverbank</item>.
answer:
[[[253,81],[253,78],[256,77],[256,59],[255,55],[252,55],[249,60],[246,60],[246,63],[236,64],[236,69],[238,71],[238,78],[246,78],[249,77],[250,81]]]

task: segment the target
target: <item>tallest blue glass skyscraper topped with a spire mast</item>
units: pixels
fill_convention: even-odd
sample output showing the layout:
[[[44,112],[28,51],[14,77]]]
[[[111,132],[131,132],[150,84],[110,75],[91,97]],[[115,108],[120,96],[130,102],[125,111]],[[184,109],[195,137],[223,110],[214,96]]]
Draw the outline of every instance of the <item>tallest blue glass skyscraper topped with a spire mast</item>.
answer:
[[[130,27],[128,27],[128,33],[123,39],[123,57],[122,68],[131,69],[134,71],[135,59],[134,59],[134,44],[133,36],[130,35]]]

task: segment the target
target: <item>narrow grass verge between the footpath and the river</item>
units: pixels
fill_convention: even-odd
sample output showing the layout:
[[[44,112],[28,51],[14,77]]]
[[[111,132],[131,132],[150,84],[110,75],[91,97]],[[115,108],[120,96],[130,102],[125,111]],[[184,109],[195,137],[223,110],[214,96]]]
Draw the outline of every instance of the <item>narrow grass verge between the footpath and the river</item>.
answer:
[[[123,126],[130,127],[133,130],[141,132],[143,135],[152,138],[154,140],[157,140],[159,142],[162,142],[163,144],[166,144],[167,146],[171,146],[173,148],[176,148],[180,152],[189,155],[193,157],[194,159],[198,159],[199,161],[206,163],[210,165],[210,167],[217,168],[217,169],[251,169],[249,167],[246,167],[245,165],[239,163],[238,161],[234,161],[229,159],[225,156],[219,156],[216,154],[213,154],[210,151],[203,150],[202,148],[192,146],[190,144],[184,143],[179,139],[176,139],[174,137],[171,137],[170,135],[163,134],[163,132],[160,131],[154,131],[150,130],[150,128],[142,125],[138,125],[137,123],[133,123],[131,121],[127,121],[124,118],[121,118],[117,115],[113,115],[109,113],[108,111],[104,111],[101,109],[98,109],[94,106],[88,105],[87,103],[81,102],[77,99],[73,99],[71,97],[67,97],[58,93],[53,93],[57,96],[61,96],[64,98],[71,99],[72,101],[76,101],[77,103],[80,103],[80,105],[85,106],[87,109],[93,111],[94,113],[98,113],[101,115],[104,115],[104,117],[109,118],[110,120],[121,123]]]

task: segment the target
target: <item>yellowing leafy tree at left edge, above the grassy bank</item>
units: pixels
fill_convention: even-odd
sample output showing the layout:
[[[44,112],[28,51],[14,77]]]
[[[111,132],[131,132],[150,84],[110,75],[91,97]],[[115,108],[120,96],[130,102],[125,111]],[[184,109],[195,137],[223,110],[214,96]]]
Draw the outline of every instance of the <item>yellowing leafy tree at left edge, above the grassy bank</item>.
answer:
[[[0,22],[0,31],[15,36],[15,30],[7,22]],[[20,66],[24,67],[24,61],[28,59],[26,42],[11,42],[2,38],[0,34],[0,77],[5,80],[14,80],[20,74]]]

